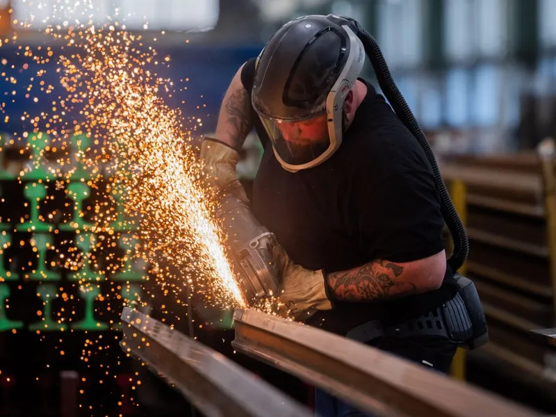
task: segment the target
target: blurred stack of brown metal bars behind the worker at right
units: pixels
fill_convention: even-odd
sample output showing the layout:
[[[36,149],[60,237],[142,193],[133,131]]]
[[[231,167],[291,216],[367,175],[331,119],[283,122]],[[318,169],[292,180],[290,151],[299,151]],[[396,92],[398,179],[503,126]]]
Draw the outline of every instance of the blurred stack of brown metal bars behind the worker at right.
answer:
[[[519,382],[528,391],[523,398],[542,398],[550,409],[556,407],[553,354],[531,331],[556,324],[553,161],[550,152],[528,152],[458,156],[441,167],[447,183],[466,185],[466,275],[489,325],[490,341],[471,354],[477,373],[469,376],[495,386]],[[516,391],[512,386],[506,391]]]

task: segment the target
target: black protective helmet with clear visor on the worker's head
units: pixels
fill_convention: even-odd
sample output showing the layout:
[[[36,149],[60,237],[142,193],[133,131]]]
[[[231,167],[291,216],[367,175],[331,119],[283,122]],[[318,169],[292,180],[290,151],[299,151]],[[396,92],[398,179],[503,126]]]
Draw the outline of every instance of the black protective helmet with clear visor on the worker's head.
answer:
[[[343,103],[364,61],[351,28],[323,15],[288,22],[265,45],[252,104],[286,170],[314,167],[340,147]]]

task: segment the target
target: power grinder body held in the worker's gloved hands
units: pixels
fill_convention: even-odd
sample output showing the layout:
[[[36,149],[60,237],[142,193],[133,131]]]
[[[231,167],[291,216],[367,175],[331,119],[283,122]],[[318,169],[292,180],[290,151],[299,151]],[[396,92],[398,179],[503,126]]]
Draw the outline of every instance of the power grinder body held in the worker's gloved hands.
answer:
[[[229,258],[245,300],[252,306],[263,297],[277,295],[279,280],[272,257],[272,249],[277,245],[275,235],[232,194],[223,197],[216,218],[222,220]]]

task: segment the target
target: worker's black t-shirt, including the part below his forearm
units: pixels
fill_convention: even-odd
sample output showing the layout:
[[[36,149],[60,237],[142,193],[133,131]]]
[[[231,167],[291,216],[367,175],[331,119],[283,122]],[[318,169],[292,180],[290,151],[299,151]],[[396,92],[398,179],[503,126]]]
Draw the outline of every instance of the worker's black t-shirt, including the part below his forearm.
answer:
[[[249,93],[253,76],[254,59],[242,72]],[[252,111],[264,147],[254,181],[254,215],[295,263],[310,270],[348,270],[373,259],[409,262],[444,248],[440,197],[425,153],[384,97],[366,85],[341,147],[308,170],[281,167]],[[451,275],[447,268],[446,277]],[[423,314],[449,300],[452,291],[446,284],[395,301],[335,303],[306,324],[345,334],[375,318],[397,321]]]

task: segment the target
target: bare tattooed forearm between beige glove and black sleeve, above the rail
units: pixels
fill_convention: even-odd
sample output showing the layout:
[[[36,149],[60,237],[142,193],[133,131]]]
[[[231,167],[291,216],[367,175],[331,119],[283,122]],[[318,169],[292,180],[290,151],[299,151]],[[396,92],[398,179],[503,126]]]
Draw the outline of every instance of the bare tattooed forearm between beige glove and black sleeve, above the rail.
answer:
[[[329,293],[338,301],[391,300],[435,290],[446,269],[445,252],[411,262],[382,259],[357,268],[327,274]]]

